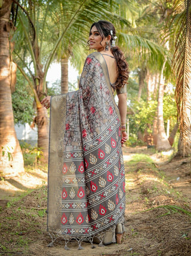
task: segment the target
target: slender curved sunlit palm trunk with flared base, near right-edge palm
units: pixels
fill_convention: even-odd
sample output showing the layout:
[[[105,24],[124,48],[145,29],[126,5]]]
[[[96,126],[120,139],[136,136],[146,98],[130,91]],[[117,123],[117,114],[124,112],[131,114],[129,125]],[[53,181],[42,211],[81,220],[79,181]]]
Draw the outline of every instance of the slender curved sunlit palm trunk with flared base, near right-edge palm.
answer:
[[[159,151],[171,149],[171,145],[165,133],[164,119],[163,119],[163,97],[164,97],[164,86],[165,86],[165,81],[163,77],[164,67],[165,67],[165,62],[163,64],[162,71],[161,71],[161,78],[159,83],[159,94],[158,94],[158,134],[156,138],[157,139],[156,149]]]

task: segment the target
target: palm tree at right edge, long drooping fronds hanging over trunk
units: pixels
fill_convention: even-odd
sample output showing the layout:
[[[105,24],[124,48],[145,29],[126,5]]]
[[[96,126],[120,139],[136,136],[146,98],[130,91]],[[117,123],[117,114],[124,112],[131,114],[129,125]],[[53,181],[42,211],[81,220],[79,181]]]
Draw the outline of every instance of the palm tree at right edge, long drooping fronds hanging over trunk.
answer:
[[[172,66],[176,74],[175,99],[177,102],[180,140],[178,155],[191,153],[191,0],[174,0],[170,20],[170,34],[174,43]]]

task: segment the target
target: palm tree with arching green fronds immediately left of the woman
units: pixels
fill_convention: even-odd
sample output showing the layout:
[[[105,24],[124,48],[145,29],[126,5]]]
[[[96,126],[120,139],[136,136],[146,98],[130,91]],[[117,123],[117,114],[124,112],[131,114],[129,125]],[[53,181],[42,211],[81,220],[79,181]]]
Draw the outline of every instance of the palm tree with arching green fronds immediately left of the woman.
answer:
[[[16,2],[16,1],[15,1]],[[48,159],[48,116],[41,100],[46,95],[46,76],[57,50],[67,49],[69,42],[79,42],[87,37],[91,22],[100,17],[110,16],[107,1],[29,1],[20,5],[18,29],[14,35],[17,46],[23,40],[27,52],[23,59],[20,48],[16,49],[15,61],[23,76],[32,88],[37,116],[38,147]],[[95,8],[96,7],[96,8]],[[92,12],[92,10],[96,10]],[[59,25],[59,26],[58,26]],[[68,50],[60,56],[68,58]],[[66,62],[65,62],[66,63]]]

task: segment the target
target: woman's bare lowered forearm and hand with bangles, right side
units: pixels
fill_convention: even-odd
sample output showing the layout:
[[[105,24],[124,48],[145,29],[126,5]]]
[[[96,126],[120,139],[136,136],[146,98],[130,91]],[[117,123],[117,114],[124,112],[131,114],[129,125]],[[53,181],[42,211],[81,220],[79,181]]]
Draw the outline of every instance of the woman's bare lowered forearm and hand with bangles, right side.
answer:
[[[127,116],[127,94],[118,94],[118,107],[121,116],[121,126],[126,127],[126,116]],[[123,145],[127,140],[127,132],[122,130],[121,144]]]

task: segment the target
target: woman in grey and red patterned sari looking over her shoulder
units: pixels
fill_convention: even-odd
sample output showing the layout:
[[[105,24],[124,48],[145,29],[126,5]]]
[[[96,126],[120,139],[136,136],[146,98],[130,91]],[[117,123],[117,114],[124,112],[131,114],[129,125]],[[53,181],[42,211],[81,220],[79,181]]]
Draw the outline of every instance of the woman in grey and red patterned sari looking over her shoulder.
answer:
[[[48,232],[65,249],[71,239],[79,249],[87,240],[120,243],[124,233],[128,64],[115,39],[112,23],[94,23],[88,45],[97,52],[85,61],[79,90],[42,100],[51,106]]]

